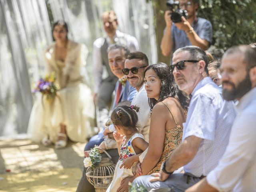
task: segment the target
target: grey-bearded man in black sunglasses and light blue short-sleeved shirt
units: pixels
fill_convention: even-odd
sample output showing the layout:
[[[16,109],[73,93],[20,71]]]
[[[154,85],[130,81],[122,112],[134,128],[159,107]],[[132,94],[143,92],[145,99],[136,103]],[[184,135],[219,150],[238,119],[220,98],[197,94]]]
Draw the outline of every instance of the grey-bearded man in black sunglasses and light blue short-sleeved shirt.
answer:
[[[182,143],[162,165],[160,173],[140,180],[148,189],[173,187],[183,192],[213,170],[228,145],[236,112],[222,89],[208,76],[207,56],[197,46],[176,50],[170,72],[180,90],[190,97]],[[184,166],[184,174],[172,174]],[[151,181],[152,183],[148,182]]]

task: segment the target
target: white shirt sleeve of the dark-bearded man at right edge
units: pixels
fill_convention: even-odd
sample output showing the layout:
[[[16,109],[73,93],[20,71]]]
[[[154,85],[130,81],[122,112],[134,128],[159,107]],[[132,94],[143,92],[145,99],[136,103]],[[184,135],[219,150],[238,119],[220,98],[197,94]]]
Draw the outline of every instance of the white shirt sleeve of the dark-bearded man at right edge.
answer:
[[[240,114],[232,126],[229,144],[224,155],[218,166],[206,177],[208,184],[220,192],[228,192],[238,183],[242,182],[245,187],[255,183],[255,173],[248,174],[255,171],[250,168],[253,163],[255,164],[255,138],[255,114],[246,112]]]

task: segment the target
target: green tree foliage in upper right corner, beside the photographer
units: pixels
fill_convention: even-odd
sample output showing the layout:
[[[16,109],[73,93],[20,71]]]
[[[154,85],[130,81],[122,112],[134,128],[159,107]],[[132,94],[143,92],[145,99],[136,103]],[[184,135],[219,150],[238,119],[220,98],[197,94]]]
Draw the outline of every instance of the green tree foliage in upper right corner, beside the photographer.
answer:
[[[198,16],[212,23],[217,48],[256,42],[256,0],[200,0]]]

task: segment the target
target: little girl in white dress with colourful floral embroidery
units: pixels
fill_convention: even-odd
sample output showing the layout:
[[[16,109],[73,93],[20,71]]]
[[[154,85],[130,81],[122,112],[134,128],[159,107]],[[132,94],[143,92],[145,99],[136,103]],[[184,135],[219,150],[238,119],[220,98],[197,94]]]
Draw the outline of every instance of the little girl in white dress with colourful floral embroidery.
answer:
[[[137,106],[119,106],[111,114],[110,118],[116,128],[113,135],[120,157],[116,164],[114,178],[106,192],[116,192],[124,178],[133,176],[132,166],[135,167],[134,162],[139,161],[138,154],[148,147],[148,143],[137,129],[136,112],[138,110]]]

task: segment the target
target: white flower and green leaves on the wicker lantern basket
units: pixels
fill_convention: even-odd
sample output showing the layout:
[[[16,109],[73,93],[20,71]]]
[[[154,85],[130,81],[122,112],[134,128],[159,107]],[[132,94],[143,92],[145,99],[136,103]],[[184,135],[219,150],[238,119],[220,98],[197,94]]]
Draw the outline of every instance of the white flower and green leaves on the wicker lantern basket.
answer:
[[[84,167],[92,166],[94,168],[100,164],[101,155],[97,147],[98,146],[95,145],[94,148],[91,148],[89,157],[84,158]]]

